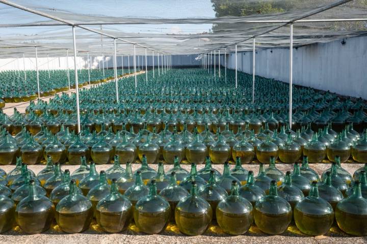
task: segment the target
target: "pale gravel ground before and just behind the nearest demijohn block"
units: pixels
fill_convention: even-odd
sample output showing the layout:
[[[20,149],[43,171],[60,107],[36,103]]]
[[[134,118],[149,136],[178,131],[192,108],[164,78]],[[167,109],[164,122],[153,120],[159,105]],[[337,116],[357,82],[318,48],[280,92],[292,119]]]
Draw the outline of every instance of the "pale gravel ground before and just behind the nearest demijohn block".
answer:
[[[106,170],[111,165],[97,165],[97,170]],[[140,165],[133,164],[133,169],[137,169]],[[345,163],[342,167],[348,170],[351,174],[362,164]],[[35,173],[38,173],[44,166],[31,165],[29,166]],[[69,169],[73,172],[78,166],[63,165],[63,170]],[[153,164],[150,167],[156,169],[158,165]],[[166,165],[165,170],[169,170],[172,165]],[[182,164],[182,167],[190,170],[190,165]],[[201,169],[203,165],[198,165]],[[222,165],[213,165],[219,171],[223,170]],[[233,167],[233,165],[232,165]],[[258,172],[256,162],[244,165],[247,170],[253,170],[255,174]],[[277,164],[277,167],[282,170],[292,170],[292,165]],[[320,175],[330,167],[329,163],[310,164],[310,167],[316,170]],[[9,172],[14,166],[0,166],[0,168]],[[223,233],[223,231],[213,223],[208,230],[200,236],[186,236],[179,232],[175,224],[169,224],[165,231],[158,235],[146,235],[139,232],[135,225],[130,225],[126,231],[117,234],[108,234],[103,232],[95,221],[92,222],[90,228],[77,234],[67,234],[62,232],[55,224],[48,231],[41,234],[28,235],[22,232],[19,227],[15,227],[11,231],[0,234],[0,243],[367,243],[367,237],[350,236],[334,225],[324,236],[307,236],[302,234],[294,224],[281,235],[267,235],[261,232],[256,226],[252,226],[250,230],[240,236],[231,236]]]

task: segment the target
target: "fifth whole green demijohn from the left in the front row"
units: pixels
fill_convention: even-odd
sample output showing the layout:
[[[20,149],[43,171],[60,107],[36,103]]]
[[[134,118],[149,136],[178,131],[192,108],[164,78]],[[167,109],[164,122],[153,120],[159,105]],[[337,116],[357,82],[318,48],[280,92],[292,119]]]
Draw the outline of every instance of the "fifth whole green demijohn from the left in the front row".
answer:
[[[175,220],[180,232],[186,235],[201,235],[212,222],[211,205],[197,195],[195,180],[191,182],[190,195],[178,202]]]

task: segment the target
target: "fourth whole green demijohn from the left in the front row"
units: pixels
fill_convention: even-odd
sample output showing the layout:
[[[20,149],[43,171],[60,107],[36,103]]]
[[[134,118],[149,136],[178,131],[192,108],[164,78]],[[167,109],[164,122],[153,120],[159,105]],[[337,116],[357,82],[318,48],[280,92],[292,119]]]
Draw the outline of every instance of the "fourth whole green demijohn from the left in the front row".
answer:
[[[155,179],[149,184],[149,194],[135,205],[134,220],[140,231],[158,234],[166,229],[171,217],[169,202],[157,194]]]

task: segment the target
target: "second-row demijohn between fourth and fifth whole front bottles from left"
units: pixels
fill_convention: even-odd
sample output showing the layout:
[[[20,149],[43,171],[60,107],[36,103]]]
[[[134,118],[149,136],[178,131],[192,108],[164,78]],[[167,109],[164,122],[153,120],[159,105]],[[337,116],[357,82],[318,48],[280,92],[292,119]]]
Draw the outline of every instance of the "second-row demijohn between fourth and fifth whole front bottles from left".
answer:
[[[159,195],[169,202],[171,206],[171,221],[174,221],[174,212],[177,203],[187,197],[189,192],[185,188],[177,185],[176,173],[173,171],[170,177],[170,184]]]

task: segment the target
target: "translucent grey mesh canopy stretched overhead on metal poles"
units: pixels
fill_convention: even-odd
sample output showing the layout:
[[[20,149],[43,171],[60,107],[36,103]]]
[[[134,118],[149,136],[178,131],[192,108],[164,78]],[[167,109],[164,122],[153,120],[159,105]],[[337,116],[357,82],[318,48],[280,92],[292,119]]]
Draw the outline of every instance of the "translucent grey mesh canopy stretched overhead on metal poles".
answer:
[[[87,51],[91,55],[114,52],[113,39],[98,33],[123,39],[117,40],[118,55],[133,55],[132,43],[143,46],[136,46],[138,55],[145,54],[145,47],[169,54],[197,54],[211,50],[223,53],[224,48],[232,52],[238,44],[238,51],[244,51],[252,49],[254,36],[257,49],[289,47],[289,22],[294,22],[295,47],[367,34],[367,21],[314,21],[366,18],[365,0],[0,2],[3,58],[19,53],[34,56],[34,46],[39,46],[39,56],[65,56],[65,49],[73,48],[68,24],[93,31],[75,29],[78,55],[86,55]]]

